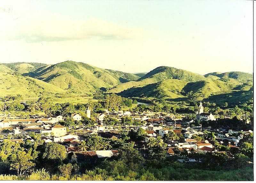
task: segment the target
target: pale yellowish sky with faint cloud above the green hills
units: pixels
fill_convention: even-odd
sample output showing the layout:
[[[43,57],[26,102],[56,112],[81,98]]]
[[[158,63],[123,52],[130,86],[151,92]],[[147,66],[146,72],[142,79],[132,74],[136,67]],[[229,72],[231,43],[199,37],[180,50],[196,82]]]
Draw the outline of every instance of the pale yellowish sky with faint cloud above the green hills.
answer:
[[[2,63],[253,72],[252,1],[1,1]]]

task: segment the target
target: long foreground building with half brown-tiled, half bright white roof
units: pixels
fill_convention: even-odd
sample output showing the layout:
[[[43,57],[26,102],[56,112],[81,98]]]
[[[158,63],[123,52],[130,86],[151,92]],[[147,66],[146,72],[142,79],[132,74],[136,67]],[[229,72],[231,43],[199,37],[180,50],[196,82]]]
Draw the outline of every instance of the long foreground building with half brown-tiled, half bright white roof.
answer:
[[[80,151],[71,152],[68,158],[71,162],[81,163],[86,160],[95,160],[98,158],[112,157],[117,155],[118,150],[96,150],[96,151]]]

